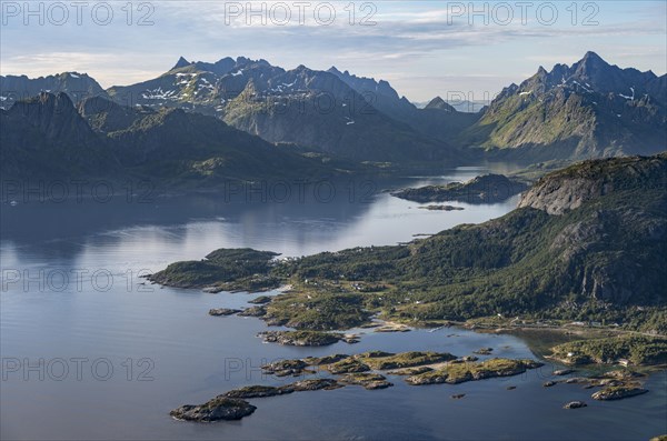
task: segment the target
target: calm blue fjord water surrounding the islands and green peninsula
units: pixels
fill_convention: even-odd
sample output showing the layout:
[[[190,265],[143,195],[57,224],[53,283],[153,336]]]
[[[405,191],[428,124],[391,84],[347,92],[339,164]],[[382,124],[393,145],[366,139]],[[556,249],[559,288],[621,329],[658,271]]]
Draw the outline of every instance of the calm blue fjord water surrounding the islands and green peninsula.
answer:
[[[479,173],[459,169],[441,179],[396,184]],[[331,201],[307,197],[282,203],[261,201],[258,193],[240,201],[208,193],[150,203],[119,198],[3,204],[1,438],[626,440],[667,432],[664,373],[647,381],[648,394],[595,402],[591,391],[576,384],[542,388],[550,367],[458,385],[409,387],[394,377],[395,387],[386,390],[348,387],[250,400],[258,410],[237,422],[172,420],[171,409],[239,385],[293,381],[261,375],[258,367],[275,359],[368,350],[465,355],[481,347],[495,348],[494,357],[535,358],[520,338],[458,329],[367,332],[355,345],[265,344],[256,337],[267,329],[262,321],[207,314],[210,308],[243,308],[258,294],[159,288],[138,277],[222,247],[302,255],[406,242],[414,234],[497,218],[517,202],[451,203],[465,211],[444,212],[386,192],[371,194],[366,186],[352,193],[349,187],[337,190]],[[17,274],[21,280],[10,281]],[[452,400],[455,393],[466,397]],[[589,407],[561,409],[573,400]]]

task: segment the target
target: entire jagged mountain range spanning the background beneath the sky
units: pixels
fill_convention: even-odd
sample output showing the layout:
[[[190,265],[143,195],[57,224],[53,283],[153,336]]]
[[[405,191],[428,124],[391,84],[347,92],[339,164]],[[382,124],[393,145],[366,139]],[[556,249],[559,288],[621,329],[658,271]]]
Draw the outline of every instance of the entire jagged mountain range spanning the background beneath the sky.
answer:
[[[51,98],[33,98],[41,92],[51,93],[64,108],[69,104],[59,93],[69,97],[93,136],[82,131],[79,139],[67,131],[43,132],[41,122],[24,112],[26,106],[50,103]],[[77,72],[37,79],[0,77],[0,100],[2,119],[12,121],[2,134],[12,144],[3,150],[21,152],[8,158],[8,163],[28,158],[28,141],[13,133],[26,123],[39,128],[30,132],[39,139],[38,146],[69,143],[76,150],[111,143],[111,152],[122,152],[123,167],[155,160],[158,151],[170,152],[158,156],[165,160],[195,154],[188,158],[189,167],[195,167],[203,160],[205,146],[235,143],[239,152],[248,151],[247,143],[265,150],[270,146],[273,149],[266,151],[290,153],[293,160],[310,154],[357,163],[425,163],[434,169],[485,159],[535,163],[651,154],[667,146],[667,76],[621,69],[594,52],[571,67],[556,64],[551,71],[540,67],[477,113],[459,112],[440,97],[418,108],[387,81],[335,67],[285,70],[243,57],[213,63],[181,57],[155,79],[107,90]],[[41,111],[48,113],[47,108]],[[80,121],[70,117],[68,123],[79,127]],[[193,138],[179,130],[192,131]],[[239,131],[266,142],[243,138]],[[191,144],[198,147],[190,149]]]

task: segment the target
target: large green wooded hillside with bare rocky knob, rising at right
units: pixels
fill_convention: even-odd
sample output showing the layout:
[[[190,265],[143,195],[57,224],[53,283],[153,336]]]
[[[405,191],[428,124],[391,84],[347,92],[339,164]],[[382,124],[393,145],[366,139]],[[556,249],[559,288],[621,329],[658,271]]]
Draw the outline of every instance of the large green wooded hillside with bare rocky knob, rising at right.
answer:
[[[667,153],[578,163],[540,180],[502,218],[406,245],[275,264],[269,272],[295,290],[262,315],[322,330],[381,313],[415,323],[502,314],[665,332],[666,183]]]

